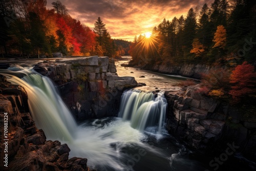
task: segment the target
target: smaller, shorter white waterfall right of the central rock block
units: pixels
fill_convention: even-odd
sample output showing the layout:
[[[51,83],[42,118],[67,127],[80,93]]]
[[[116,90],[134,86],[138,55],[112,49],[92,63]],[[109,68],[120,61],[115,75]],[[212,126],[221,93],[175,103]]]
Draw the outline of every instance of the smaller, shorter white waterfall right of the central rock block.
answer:
[[[161,92],[142,92],[129,90],[121,97],[120,112],[123,120],[131,120],[134,129],[144,131],[148,126],[158,126],[161,133],[165,120],[167,101]]]

